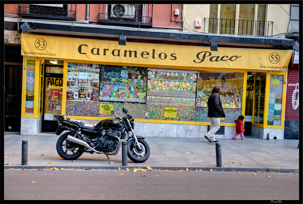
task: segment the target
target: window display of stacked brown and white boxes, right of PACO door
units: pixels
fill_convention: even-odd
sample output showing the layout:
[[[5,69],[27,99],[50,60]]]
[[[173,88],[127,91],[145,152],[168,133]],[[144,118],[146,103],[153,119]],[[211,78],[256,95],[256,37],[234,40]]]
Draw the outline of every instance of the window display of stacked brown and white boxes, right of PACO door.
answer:
[[[68,62],[67,100],[98,101],[101,65]]]

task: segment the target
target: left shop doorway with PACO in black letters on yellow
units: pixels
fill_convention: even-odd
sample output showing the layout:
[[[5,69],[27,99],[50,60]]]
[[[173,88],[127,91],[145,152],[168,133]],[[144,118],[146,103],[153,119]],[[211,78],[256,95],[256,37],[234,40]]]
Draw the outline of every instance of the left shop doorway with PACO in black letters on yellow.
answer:
[[[45,60],[44,73],[42,132],[55,132],[58,123],[54,115],[61,115],[62,110],[63,61]]]

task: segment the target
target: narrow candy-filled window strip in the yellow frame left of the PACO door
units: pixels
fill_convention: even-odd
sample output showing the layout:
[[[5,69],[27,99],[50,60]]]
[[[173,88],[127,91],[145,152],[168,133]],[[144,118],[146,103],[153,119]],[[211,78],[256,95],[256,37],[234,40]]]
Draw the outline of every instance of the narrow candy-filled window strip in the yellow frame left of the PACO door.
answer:
[[[35,61],[26,60],[25,115],[34,115]]]

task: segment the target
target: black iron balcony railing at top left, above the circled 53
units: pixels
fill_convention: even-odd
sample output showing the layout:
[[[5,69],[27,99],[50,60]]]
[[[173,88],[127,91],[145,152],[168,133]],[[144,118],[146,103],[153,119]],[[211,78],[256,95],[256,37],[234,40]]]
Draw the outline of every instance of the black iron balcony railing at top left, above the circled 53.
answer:
[[[74,9],[68,9],[68,5],[64,4],[62,8],[51,7],[51,6],[42,6],[42,5],[29,5],[23,4],[18,5],[18,15],[19,16],[28,16],[28,17],[37,17],[37,18],[55,18],[55,19],[67,19],[67,20],[76,20],[77,16],[77,4],[74,5]]]

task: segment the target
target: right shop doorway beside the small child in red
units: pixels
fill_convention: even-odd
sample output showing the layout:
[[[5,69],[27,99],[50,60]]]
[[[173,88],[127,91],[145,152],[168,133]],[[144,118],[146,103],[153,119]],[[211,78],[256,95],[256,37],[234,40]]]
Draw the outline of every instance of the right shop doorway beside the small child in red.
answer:
[[[252,123],[263,124],[266,73],[248,72],[246,84],[245,131],[251,135]]]

